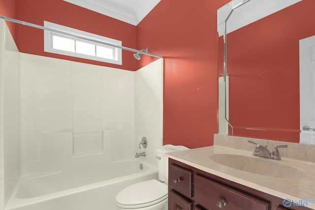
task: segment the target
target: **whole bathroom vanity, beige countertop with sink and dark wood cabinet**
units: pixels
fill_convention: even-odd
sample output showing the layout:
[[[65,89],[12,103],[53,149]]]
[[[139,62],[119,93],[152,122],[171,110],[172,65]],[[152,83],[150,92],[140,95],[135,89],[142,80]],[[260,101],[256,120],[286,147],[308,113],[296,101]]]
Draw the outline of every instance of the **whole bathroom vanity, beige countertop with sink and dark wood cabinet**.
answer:
[[[288,149],[294,146],[289,143]],[[253,157],[249,149],[215,145],[165,154],[169,157],[169,210],[315,210],[314,162],[286,157],[260,162],[261,157]],[[240,159],[243,168],[235,167],[239,157],[245,158]],[[234,165],[228,165],[231,162]]]

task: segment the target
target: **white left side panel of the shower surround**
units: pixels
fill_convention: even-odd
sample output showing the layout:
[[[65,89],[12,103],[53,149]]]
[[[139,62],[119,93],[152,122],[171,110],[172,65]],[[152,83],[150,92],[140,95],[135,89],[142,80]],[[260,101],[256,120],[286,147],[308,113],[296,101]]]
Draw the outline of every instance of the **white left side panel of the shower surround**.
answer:
[[[4,210],[4,205],[21,176],[20,74],[17,51],[5,22],[0,20],[0,210]]]

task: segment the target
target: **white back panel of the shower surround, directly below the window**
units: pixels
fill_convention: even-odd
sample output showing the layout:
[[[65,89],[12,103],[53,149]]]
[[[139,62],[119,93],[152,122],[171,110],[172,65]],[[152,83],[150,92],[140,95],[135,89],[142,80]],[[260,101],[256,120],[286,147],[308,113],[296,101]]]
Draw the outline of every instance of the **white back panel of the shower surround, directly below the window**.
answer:
[[[21,66],[22,175],[135,154],[134,72],[29,54]]]

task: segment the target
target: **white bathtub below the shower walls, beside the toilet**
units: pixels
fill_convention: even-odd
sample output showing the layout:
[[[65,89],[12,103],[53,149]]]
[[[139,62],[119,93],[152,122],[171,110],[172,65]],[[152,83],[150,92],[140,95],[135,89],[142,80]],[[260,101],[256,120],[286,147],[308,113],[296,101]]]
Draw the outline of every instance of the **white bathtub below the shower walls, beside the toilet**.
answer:
[[[157,168],[139,158],[68,167],[21,179],[5,210],[116,210],[119,191],[151,179],[158,179]]]

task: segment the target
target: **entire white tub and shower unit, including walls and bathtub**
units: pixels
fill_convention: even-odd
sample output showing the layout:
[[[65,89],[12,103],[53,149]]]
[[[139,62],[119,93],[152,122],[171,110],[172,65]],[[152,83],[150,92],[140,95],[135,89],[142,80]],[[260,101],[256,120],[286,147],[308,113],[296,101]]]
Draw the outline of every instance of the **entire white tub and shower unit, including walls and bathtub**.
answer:
[[[126,71],[24,54],[0,19],[0,61],[0,210],[116,210],[158,179],[163,59]]]

